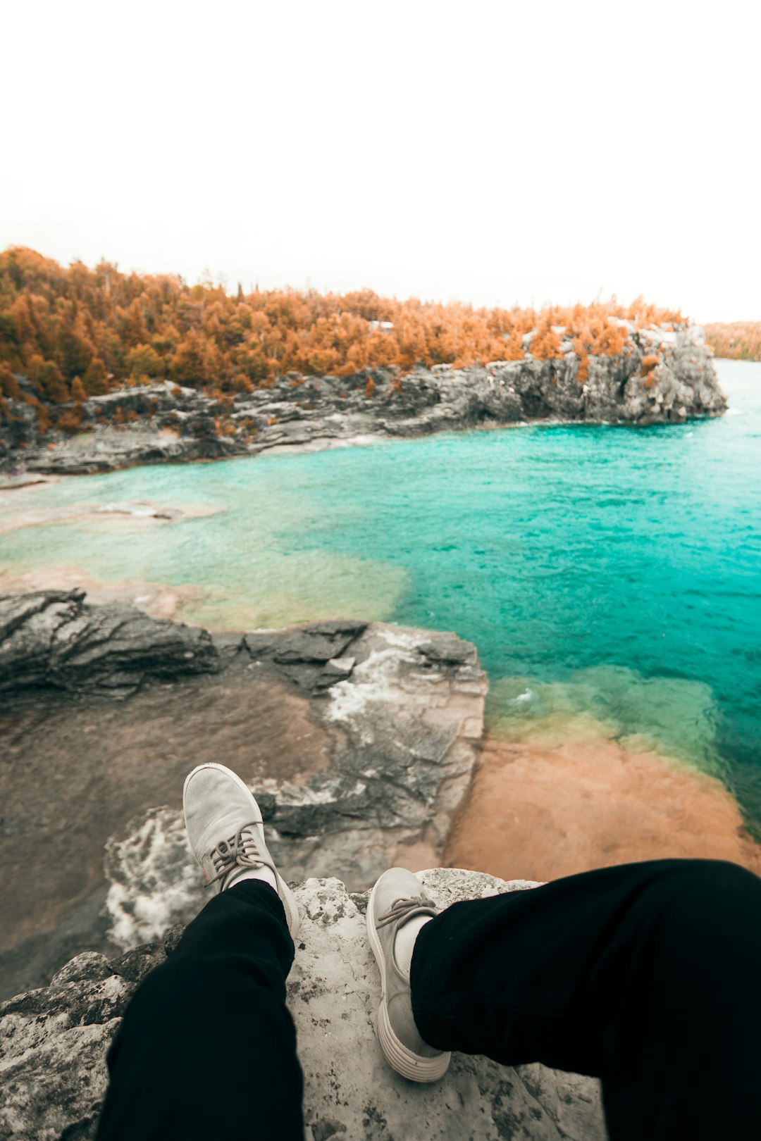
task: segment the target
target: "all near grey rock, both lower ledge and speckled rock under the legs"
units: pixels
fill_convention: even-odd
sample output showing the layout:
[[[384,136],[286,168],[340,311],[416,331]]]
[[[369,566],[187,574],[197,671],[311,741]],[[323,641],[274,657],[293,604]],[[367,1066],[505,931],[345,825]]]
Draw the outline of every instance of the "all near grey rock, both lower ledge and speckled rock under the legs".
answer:
[[[0,1003],[0,1139],[95,1136],[126,1005],[207,898],[181,776],[221,759],[253,786],[303,916],[288,1002],[307,1136],[404,1136],[414,1119],[459,1138],[465,1114],[478,1141],[604,1141],[590,1078],[456,1055],[443,1083],[414,1087],[375,1041],[364,911],[381,871],[432,868],[421,879],[440,906],[535,885],[437,866],[468,810],[486,688],[475,647],[448,633],[333,621],[218,634],[81,590],[0,597],[0,931],[25,932],[0,949],[0,994],[18,992]]]

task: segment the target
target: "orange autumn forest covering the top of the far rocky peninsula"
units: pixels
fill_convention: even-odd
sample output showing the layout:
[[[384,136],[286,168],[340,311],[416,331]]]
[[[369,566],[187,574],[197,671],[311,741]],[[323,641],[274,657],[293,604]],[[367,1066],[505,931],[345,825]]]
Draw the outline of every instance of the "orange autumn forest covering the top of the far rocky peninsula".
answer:
[[[418,364],[523,361],[528,333],[534,359],[557,359],[573,347],[583,382],[592,356],[626,350],[628,322],[671,327],[683,319],[641,299],[536,311],[399,301],[366,289],[238,286],[228,294],[212,282],[123,274],[108,261],[65,268],[14,246],[0,254],[0,388],[11,399],[18,393],[30,403],[65,404],[81,402],[81,391],[168,379],[227,398],[284,374],[298,385],[384,366],[403,374]],[[17,377],[26,378],[22,389]],[[374,386],[363,383],[371,398]]]

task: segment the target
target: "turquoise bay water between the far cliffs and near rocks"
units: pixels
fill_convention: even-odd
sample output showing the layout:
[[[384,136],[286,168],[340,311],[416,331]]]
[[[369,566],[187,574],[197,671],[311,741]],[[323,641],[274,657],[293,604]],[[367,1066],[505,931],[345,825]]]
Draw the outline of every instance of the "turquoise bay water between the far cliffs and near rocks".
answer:
[[[720,772],[761,820],[761,365],[679,426],[532,426],[65,480],[25,505],[224,512],[0,539],[0,572],[195,583],[232,628],[364,616],[455,630],[502,727],[590,715]],[[17,510],[6,496],[0,521]],[[1,578],[0,578],[1,582]]]

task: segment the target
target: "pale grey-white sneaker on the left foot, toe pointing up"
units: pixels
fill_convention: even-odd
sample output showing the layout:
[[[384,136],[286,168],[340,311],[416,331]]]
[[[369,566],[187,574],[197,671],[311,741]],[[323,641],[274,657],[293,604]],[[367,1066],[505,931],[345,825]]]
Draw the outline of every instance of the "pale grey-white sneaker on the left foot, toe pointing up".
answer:
[[[241,778],[224,764],[199,764],[185,778],[183,809],[193,855],[212,890],[226,891],[242,877],[264,880],[280,896],[296,939],[300,919],[293,892],[273,863],[259,806]]]

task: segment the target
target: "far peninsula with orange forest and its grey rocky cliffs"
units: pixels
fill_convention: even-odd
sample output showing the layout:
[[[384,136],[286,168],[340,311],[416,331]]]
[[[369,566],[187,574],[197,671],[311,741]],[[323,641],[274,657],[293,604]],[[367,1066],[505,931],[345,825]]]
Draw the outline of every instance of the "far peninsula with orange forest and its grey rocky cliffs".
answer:
[[[475,309],[0,254],[0,464],[87,472],[357,436],[720,415],[703,330],[642,300]]]

